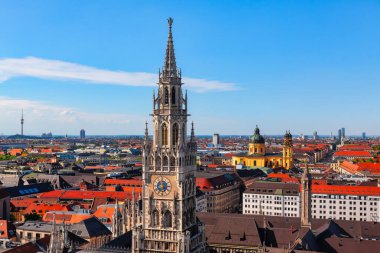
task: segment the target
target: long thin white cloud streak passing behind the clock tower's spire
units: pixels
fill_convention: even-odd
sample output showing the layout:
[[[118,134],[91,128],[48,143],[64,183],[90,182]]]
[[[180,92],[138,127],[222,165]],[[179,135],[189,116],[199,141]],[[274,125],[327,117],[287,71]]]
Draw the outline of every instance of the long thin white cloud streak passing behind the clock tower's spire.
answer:
[[[157,74],[152,73],[103,70],[77,63],[35,57],[0,59],[0,82],[21,76],[125,86],[146,87],[157,83]],[[214,80],[184,77],[183,81],[189,89],[197,92],[237,89],[234,83]]]

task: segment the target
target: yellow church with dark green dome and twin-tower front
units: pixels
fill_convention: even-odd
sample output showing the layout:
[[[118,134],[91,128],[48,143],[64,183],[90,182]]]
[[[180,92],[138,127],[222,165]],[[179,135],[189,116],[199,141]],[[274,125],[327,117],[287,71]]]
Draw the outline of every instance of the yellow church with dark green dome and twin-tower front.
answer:
[[[293,168],[293,140],[290,132],[284,136],[284,146],[282,153],[267,153],[265,139],[260,134],[260,129],[256,126],[248,144],[248,153],[236,154],[232,157],[233,165],[243,165],[247,167],[267,167],[267,168]]]

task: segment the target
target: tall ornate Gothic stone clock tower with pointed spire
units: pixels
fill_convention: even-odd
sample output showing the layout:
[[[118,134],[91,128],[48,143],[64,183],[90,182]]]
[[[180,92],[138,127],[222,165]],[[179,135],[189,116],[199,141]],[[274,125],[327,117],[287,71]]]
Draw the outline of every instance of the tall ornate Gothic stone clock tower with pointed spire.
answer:
[[[187,94],[182,92],[172,36],[158,93],[153,94],[153,141],[145,129],[142,226],[133,230],[133,252],[204,252],[203,226],[195,216],[196,142],[187,139]]]

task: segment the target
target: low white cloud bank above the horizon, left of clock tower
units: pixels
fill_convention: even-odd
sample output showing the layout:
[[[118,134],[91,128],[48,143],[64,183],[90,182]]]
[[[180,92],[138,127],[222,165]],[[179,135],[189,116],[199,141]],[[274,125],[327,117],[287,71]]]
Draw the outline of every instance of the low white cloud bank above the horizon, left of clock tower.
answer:
[[[24,110],[25,134],[143,134],[147,117],[127,114],[91,113],[43,102],[0,97],[0,133],[16,134]]]

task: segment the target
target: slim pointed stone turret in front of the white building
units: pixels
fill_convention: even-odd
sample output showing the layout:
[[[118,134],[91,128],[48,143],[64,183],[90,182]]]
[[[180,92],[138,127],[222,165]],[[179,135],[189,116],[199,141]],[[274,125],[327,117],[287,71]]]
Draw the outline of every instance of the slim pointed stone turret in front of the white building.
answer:
[[[301,226],[311,227],[311,175],[306,164],[301,177]]]

